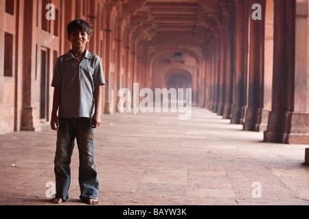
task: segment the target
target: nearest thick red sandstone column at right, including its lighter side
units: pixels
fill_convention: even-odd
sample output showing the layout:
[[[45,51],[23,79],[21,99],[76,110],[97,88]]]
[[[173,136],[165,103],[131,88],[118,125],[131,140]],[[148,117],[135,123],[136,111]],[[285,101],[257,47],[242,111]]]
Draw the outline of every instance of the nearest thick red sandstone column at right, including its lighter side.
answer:
[[[308,1],[274,2],[273,99],[264,141],[308,144]]]

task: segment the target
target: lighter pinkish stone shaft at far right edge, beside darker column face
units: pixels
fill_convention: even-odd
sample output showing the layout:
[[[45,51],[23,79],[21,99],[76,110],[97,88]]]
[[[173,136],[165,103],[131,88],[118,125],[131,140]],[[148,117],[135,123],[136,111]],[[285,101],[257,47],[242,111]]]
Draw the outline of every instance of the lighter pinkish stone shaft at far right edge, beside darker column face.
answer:
[[[296,0],[295,81],[289,143],[309,143],[308,0]]]

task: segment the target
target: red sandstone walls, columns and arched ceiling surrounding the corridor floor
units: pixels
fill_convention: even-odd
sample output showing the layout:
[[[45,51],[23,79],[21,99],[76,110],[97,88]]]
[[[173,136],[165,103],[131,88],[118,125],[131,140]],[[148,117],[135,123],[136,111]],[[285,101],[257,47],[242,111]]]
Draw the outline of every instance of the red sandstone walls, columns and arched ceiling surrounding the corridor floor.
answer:
[[[309,142],[308,0],[1,2],[0,133],[49,124],[53,90],[35,91],[52,81],[57,56],[71,48],[65,27],[83,18],[94,27],[87,49],[104,68],[104,114],[117,111],[117,91],[133,83],[188,86],[184,75],[165,81],[183,69],[199,107],[265,131],[266,142]]]

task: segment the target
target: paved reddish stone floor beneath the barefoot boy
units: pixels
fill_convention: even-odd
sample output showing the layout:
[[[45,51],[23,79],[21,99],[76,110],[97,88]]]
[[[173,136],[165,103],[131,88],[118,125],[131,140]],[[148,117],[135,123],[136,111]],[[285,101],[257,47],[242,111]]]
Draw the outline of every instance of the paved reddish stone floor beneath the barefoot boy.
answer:
[[[266,144],[205,109],[102,116],[96,162],[102,205],[309,205],[306,145]],[[56,132],[0,136],[0,204],[54,205]],[[78,149],[69,201],[78,200]]]

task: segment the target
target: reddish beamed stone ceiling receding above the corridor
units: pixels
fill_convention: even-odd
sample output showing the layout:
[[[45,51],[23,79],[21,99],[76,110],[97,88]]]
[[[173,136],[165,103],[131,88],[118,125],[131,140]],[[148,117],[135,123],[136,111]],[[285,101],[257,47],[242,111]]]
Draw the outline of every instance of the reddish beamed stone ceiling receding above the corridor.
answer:
[[[112,1],[115,3],[116,1]],[[205,47],[233,0],[126,0],[122,15],[144,47]]]

